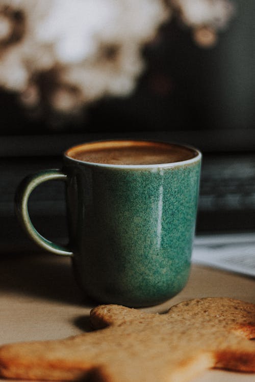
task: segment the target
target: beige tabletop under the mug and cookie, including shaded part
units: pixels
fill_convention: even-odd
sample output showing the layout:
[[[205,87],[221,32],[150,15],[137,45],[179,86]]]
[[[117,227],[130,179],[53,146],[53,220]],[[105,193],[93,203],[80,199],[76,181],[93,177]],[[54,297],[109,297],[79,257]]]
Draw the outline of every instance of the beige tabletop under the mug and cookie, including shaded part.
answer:
[[[190,280],[179,295],[143,310],[164,312],[184,299],[208,296],[255,303],[255,280],[193,266]],[[88,315],[93,306],[74,282],[70,259],[50,254],[0,255],[0,344],[83,333],[89,330]],[[255,374],[211,370],[193,381],[255,382]]]

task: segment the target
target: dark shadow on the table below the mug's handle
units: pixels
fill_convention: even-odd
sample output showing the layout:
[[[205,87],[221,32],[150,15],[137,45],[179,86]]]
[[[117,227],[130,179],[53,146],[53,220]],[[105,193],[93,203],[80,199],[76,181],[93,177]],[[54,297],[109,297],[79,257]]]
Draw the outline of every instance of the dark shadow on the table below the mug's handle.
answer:
[[[51,254],[0,258],[0,290],[53,301],[93,307],[77,286],[70,259]]]

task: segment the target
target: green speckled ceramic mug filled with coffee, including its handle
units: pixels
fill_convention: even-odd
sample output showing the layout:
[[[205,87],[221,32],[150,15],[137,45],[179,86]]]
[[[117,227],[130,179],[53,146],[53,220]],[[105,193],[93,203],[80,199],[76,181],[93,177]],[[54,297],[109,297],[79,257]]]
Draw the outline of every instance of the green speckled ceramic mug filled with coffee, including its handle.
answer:
[[[195,231],[201,154],[162,142],[102,141],[75,146],[62,170],[25,178],[17,216],[40,247],[72,258],[86,295],[131,307],[159,304],[185,286]],[[46,180],[64,180],[69,244],[42,237],[28,199]]]

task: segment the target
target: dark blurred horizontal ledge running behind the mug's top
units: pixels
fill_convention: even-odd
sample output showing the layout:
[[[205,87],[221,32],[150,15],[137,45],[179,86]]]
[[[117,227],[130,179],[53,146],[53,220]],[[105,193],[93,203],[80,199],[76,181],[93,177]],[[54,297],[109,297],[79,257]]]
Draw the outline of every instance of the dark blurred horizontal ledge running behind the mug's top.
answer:
[[[202,153],[252,152],[255,148],[255,129],[3,135],[0,157],[61,156],[69,147],[82,142],[125,138],[189,144]]]

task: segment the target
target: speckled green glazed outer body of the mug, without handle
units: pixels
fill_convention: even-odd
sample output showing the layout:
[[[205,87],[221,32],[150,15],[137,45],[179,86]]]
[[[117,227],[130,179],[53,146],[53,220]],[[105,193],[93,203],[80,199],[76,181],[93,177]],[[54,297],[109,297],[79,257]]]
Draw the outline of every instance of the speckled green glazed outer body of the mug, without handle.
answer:
[[[155,305],[190,270],[200,159],[177,166],[100,166],[65,157],[73,266],[99,302]]]

